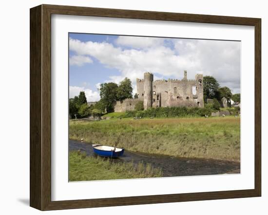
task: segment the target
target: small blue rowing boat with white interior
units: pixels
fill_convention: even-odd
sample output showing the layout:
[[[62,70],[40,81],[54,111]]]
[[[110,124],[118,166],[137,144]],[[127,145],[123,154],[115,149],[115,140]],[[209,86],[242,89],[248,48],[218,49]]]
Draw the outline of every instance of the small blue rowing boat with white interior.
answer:
[[[93,144],[92,147],[95,154],[109,158],[118,158],[119,156],[123,155],[125,151],[124,148],[117,148],[108,145]]]

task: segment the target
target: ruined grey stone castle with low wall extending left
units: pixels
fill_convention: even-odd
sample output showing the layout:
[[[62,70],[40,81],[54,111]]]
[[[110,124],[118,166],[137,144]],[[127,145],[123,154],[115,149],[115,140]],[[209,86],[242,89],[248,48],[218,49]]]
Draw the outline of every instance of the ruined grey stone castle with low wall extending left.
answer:
[[[143,101],[144,109],[150,107],[204,107],[203,74],[196,74],[194,80],[184,78],[155,80],[150,72],[144,73],[144,79],[137,78],[137,99],[117,101],[115,112],[134,110],[139,101]]]

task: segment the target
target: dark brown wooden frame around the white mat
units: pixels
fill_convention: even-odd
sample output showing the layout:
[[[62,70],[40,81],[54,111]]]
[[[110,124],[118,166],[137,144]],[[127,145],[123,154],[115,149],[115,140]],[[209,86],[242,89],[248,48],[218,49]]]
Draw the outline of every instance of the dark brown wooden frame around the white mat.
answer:
[[[255,27],[255,188],[218,192],[51,201],[51,15],[134,18]],[[59,210],[261,196],[261,19],[39,5],[30,9],[30,206]]]

